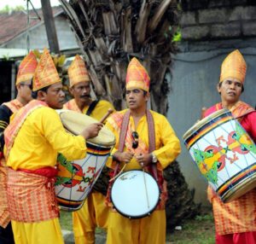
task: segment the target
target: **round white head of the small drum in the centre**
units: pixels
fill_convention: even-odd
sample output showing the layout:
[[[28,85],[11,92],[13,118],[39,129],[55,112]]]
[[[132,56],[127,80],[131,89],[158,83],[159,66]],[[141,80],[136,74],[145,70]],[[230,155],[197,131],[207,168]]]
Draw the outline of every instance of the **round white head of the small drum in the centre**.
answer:
[[[143,171],[126,171],[113,183],[111,200],[127,218],[143,218],[154,211],[160,189],[154,177]]]

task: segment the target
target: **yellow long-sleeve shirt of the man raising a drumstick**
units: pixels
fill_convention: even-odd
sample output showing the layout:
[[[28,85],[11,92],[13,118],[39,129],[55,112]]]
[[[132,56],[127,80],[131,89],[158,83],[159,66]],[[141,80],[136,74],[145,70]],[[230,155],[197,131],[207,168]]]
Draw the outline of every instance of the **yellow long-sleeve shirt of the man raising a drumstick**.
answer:
[[[55,166],[58,153],[67,160],[84,158],[84,137],[75,137],[65,131],[54,109],[39,107],[27,116],[21,126],[10,150],[7,166],[14,170]]]

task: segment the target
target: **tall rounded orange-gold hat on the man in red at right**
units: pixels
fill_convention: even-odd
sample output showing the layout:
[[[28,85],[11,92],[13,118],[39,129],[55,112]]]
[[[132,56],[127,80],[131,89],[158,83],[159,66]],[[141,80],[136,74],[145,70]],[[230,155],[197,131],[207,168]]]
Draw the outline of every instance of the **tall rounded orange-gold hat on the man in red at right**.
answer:
[[[221,65],[219,82],[223,82],[226,78],[236,78],[240,80],[241,83],[244,83],[246,73],[246,61],[240,51],[236,49],[224,59]]]

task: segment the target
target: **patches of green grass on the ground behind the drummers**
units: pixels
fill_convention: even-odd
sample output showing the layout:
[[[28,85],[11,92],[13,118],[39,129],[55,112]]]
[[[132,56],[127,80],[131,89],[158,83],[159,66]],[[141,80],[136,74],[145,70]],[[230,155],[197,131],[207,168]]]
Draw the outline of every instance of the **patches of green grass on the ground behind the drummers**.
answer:
[[[61,211],[61,229],[73,230],[72,212]],[[105,235],[102,229],[96,229],[97,234]],[[214,244],[215,230],[212,212],[204,212],[195,217],[187,219],[182,224],[182,230],[175,230],[166,235],[166,243],[172,244]]]

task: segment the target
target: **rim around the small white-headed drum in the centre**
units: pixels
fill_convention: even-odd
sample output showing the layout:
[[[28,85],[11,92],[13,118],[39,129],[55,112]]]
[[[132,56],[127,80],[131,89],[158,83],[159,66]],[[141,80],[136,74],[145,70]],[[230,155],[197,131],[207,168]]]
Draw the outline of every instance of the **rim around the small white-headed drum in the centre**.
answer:
[[[141,170],[136,169],[136,170],[125,171],[125,172],[123,172],[122,174],[120,174],[119,177],[121,177],[121,176],[123,176],[125,173],[131,172],[131,171],[141,171]],[[141,172],[147,173],[150,177],[152,177],[152,178],[154,179],[154,181],[155,181],[155,183],[156,183],[156,185],[157,185],[157,189],[158,189],[158,200],[157,200],[155,206],[154,206],[154,207],[152,208],[152,210],[150,210],[149,212],[147,212],[147,213],[145,213],[145,214],[142,214],[142,215],[130,216],[130,215],[125,214],[124,212],[121,212],[116,206],[114,206],[114,204],[113,204],[113,199],[112,199],[112,190],[113,190],[113,185],[112,185],[111,190],[110,190],[110,200],[111,200],[111,202],[112,202],[112,204],[113,204],[113,208],[114,208],[117,212],[119,212],[121,215],[123,215],[125,218],[137,219],[137,218],[144,218],[144,217],[147,217],[147,216],[149,216],[152,212],[154,212],[155,208],[158,206],[158,204],[159,204],[159,202],[160,202],[160,187],[159,187],[157,181],[155,180],[155,178],[154,178],[150,173],[145,172],[145,171],[141,171]],[[117,177],[117,178],[114,180],[113,184],[115,183],[115,181],[116,181],[117,179],[119,179],[119,177]]]

